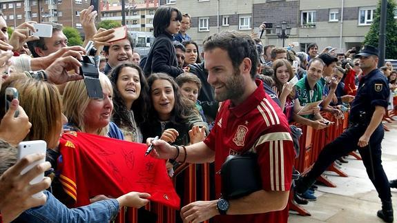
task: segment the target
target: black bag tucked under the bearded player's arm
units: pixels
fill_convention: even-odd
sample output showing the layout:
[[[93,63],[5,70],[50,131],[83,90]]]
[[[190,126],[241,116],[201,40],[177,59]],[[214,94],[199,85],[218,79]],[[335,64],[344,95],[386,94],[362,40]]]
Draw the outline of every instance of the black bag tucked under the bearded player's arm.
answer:
[[[222,197],[233,200],[262,190],[257,159],[255,153],[226,157],[220,170]]]

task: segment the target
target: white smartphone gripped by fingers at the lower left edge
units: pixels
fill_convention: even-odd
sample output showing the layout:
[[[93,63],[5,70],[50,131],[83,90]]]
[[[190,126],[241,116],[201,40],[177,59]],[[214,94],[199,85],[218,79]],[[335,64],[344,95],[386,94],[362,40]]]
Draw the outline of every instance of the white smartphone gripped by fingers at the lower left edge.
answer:
[[[46,141],[43,140],[34,140],[34,141],[26,141],[26,142],[20,142],[18,144],[18,160],[22,159],[23,157],[26,157],[26,155],[30,155],[33,153],[44,153],[46,154],[47,150],[47,143]],[[43,157],[43,159],[38,160],[37,162],[34,162],[24,168],[21,171],[21,175],[25,174],[26,172],[30,171],[33,167],[35,167],[37,164],[41,164],[43,162],[46,162],[46,158]],[[35,179],[30,181],[30,184],[37,184],[41,182],[44,178],[44,173],[41,173],[40,175],[37,175]],[[41,197],[43,195],[43,191],[40,191],[39,193],[35,193],[32,195],[32,197]]]

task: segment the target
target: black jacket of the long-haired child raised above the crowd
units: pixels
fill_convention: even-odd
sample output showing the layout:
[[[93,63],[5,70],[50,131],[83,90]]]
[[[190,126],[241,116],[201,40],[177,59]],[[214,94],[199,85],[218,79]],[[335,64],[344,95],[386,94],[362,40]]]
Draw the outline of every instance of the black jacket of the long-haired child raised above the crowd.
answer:
[[[156,37],[144,66],[146,77],[149,77],[152,72],[165,72],[175,78],[184,72],[177,65],[177,56],[172,39],[173,36],[168,34]]]

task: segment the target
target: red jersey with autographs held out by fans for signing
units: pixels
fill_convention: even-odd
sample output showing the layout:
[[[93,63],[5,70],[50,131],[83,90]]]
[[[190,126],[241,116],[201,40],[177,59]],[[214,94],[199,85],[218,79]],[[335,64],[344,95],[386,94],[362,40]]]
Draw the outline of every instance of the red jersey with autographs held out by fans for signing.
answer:
[[[145,156],[147,146],[88,133],[70,132],[59,142],[59,181],[72,197],[71,207],[90,204],[90,197],[119,197],[130,191],[150,193],[148,199],[180,208],[165,160]]]

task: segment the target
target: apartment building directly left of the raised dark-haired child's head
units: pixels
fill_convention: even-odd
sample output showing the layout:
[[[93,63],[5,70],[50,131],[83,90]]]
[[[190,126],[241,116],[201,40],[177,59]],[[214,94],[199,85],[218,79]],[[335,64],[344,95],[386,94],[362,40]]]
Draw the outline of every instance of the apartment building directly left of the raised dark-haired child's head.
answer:
[[[135,39],[135,46],[146,47],[153,42],[153,17],[159,3],[154,1],[136,2],[125,0],[126,27]],[[103,1],[101,20],[113,20],[122,23],[122,4],[120,1]]]

